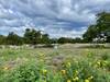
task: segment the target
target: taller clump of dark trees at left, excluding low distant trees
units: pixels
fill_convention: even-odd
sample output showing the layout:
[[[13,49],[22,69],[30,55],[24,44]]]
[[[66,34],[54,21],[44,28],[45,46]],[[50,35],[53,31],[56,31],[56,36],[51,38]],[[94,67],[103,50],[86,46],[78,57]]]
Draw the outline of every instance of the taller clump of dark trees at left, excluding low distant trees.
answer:
[[[26,28],[23,36],[19,36],[14,32],[10,32],[8,36],[0,35],[0,45],[23,45],[23,44],[50,44],[51,39],[47,34],[41,31]]]

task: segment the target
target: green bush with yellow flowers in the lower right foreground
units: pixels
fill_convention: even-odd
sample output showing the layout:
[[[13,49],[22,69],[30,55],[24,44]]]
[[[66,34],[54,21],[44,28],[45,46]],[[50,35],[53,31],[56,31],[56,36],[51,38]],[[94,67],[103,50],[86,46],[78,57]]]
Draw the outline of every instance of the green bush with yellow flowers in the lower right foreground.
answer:
[[[109,74],[95,68],[86,60],[66,63],[63,70],[65,70],[63,82],[68,80],[70,82],[109,82],[110,80]]]

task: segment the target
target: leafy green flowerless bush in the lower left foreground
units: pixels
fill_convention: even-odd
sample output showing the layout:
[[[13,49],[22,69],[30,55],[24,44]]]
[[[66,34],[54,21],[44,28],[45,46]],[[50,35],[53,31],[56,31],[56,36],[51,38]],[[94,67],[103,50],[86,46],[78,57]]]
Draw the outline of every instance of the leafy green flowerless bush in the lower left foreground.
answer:
[[[8,75],[8,82],[35,82],[38,75],[38,69],[34,65],[21,66]]]

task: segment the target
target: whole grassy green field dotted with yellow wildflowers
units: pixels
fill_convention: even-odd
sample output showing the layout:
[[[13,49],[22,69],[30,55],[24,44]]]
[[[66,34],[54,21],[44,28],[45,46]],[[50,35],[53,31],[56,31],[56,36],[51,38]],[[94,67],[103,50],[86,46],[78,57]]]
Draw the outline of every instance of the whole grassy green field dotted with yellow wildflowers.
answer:
[[[110,49],[0,49],[0,82],[110,82]]]

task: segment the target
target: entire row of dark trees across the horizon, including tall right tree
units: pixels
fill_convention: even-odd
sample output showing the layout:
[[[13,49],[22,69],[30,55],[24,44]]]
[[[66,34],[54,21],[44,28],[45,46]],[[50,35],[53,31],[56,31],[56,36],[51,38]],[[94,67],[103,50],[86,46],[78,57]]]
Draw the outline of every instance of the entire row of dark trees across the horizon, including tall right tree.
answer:
[[[65,44],[65,43],[110,43],[110,13],[97,14],[96,24],[90,25],[84,33],[82,38],[50,38],[48,34],[41,31],[26,28],[23,36],[10,32],[8,36],[0,35],[0,45],[23,45],[23,44]]]

